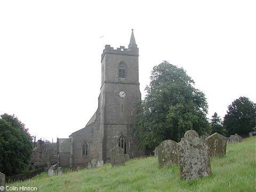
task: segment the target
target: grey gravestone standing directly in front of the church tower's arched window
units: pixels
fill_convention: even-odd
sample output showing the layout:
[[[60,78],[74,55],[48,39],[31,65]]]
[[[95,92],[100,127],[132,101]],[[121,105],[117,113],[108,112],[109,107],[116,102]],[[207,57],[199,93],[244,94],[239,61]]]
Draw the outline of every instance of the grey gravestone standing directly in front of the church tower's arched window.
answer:
[[[114,147],[110,149],[111,165],[125,165],[124,149],[121,147]]]

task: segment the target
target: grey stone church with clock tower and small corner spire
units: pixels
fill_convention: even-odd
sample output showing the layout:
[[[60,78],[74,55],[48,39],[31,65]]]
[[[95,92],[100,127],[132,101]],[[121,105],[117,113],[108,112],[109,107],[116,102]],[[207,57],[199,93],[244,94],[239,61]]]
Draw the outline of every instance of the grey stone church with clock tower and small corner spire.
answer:
[[[110,149],[115,146],[122,147],[131,158],[144,155],[131,133],[139,101],[139,48],[132,29],[128,48],[105,45],[98,109],[83,129],[57,139],[60,166],[86,166],[92,159],[110,162]]]

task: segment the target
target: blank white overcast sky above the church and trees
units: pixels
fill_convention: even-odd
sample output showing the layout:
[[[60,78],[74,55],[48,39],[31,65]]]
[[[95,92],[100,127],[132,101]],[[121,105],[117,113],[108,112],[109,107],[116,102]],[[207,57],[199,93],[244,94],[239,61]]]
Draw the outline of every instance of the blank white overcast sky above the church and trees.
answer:
[[[0,1],[0,115],[37,139],[82,129],[98,105],[101,53],[139,47],[140,90],[163,60],[205,93],[209,118],[256,102],[256,1]],[[103,36],[103,37],[101,37]]]

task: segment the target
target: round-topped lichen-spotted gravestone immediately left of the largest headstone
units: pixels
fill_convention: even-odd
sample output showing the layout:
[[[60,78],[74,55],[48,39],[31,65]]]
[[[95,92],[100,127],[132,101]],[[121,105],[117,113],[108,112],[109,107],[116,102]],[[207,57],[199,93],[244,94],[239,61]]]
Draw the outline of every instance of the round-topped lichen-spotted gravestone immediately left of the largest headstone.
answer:
[[[178,165],[177,142],[173,140],[162,141],[157,149],[158,165]]]

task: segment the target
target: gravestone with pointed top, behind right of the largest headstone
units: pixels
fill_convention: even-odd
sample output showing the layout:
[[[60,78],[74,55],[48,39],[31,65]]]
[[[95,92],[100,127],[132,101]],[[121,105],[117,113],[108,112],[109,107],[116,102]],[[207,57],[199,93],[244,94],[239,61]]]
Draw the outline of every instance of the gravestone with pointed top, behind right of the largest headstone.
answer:
[[[209,147],[210,157],[222,157],[226,155],[227,138],[219,133],[213,133],[205,138]]]

